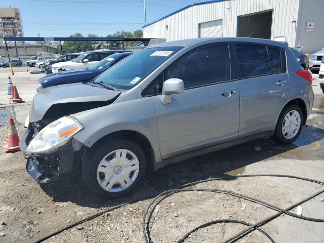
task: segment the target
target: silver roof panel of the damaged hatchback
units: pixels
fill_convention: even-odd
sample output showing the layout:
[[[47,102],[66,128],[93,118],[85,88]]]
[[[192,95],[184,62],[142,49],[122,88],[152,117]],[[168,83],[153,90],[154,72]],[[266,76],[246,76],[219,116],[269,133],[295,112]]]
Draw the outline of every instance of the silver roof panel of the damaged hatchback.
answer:
[[[209,38],[182,39],[181,41],[161,43],[147,48],[187,47],[191,44],[198,43],[198,42],[201,42],[201,45],[203,45],[204,43],[218,43],[218,42],[249,42],[249,43],[259,43],[265,45],[279,46],[279,47],[287,47],[285,43],[271,41],[270,39],[250,38],[250,37],[209,37]]]

